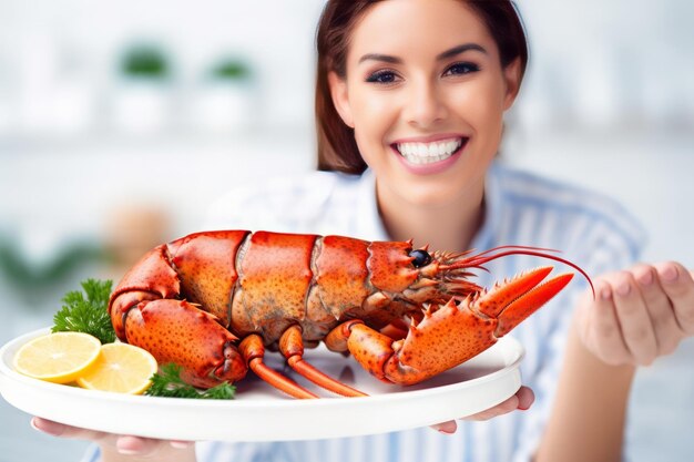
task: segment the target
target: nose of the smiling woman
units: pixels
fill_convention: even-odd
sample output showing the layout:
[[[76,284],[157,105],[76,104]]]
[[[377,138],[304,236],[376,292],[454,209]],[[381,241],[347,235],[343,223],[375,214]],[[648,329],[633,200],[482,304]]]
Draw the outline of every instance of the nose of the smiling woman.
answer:
[[[446,119],[448,110],[441,89],[426,79],[410,82],[405,105],[407,123],[410,126],[428,129]]]

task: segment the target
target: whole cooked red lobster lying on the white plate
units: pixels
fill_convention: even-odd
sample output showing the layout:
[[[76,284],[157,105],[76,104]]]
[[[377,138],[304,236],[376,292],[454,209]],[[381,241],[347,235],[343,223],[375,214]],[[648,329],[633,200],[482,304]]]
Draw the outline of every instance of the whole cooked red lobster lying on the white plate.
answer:
[[[364,396],[303,359],[324,341],[376,378],[420,382],[491,347],[569,284],[527,271],[486,290],[471,268],[527,254],[581,268],[544,249],[429,253],[411,242],[248,230],[196,233],[149,251],[111,295],[118,337],[182,367],[191,384],[236,382],[251,368],[296,398],[317,398],[263,362],[278,348],[300,376]],[[589,279],[590,281],[590,279]],[[409,326],[407,324],[409,321]]]

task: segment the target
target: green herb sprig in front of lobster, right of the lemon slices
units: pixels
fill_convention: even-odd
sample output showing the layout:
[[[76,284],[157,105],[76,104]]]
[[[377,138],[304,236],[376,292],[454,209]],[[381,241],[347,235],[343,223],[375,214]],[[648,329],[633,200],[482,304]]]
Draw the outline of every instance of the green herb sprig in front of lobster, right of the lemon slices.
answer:
[[[150,397],[165,398],[201,398],[211,400],[229,400],[234,398],[236,387],[228,382],[221,383],[208,390],[198,390],[181,379],[181,366],[170,362],[152,376],[152,387],[144,392]]]

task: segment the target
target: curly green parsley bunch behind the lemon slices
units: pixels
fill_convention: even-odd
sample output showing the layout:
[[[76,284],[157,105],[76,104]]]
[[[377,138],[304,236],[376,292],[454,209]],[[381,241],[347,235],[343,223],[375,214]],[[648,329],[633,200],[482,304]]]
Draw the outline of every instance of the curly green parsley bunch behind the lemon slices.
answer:
[[[86,279],[82,281],[84,295],[72,290],[63,297],[63,307],[53,316],[52,332],[85,332],[96,337],[101,343],[113,343],[115,331],[109,316],[109,297],[112,280]]]

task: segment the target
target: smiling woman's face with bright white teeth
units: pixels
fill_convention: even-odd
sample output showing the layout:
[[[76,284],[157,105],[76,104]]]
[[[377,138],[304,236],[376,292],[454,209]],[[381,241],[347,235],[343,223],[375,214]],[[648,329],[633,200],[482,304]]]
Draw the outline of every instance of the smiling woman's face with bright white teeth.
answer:
[[[481,199],[520,79],[459,0],[386,0],[355,24],[337,111],[355,129],[379,202]]]

